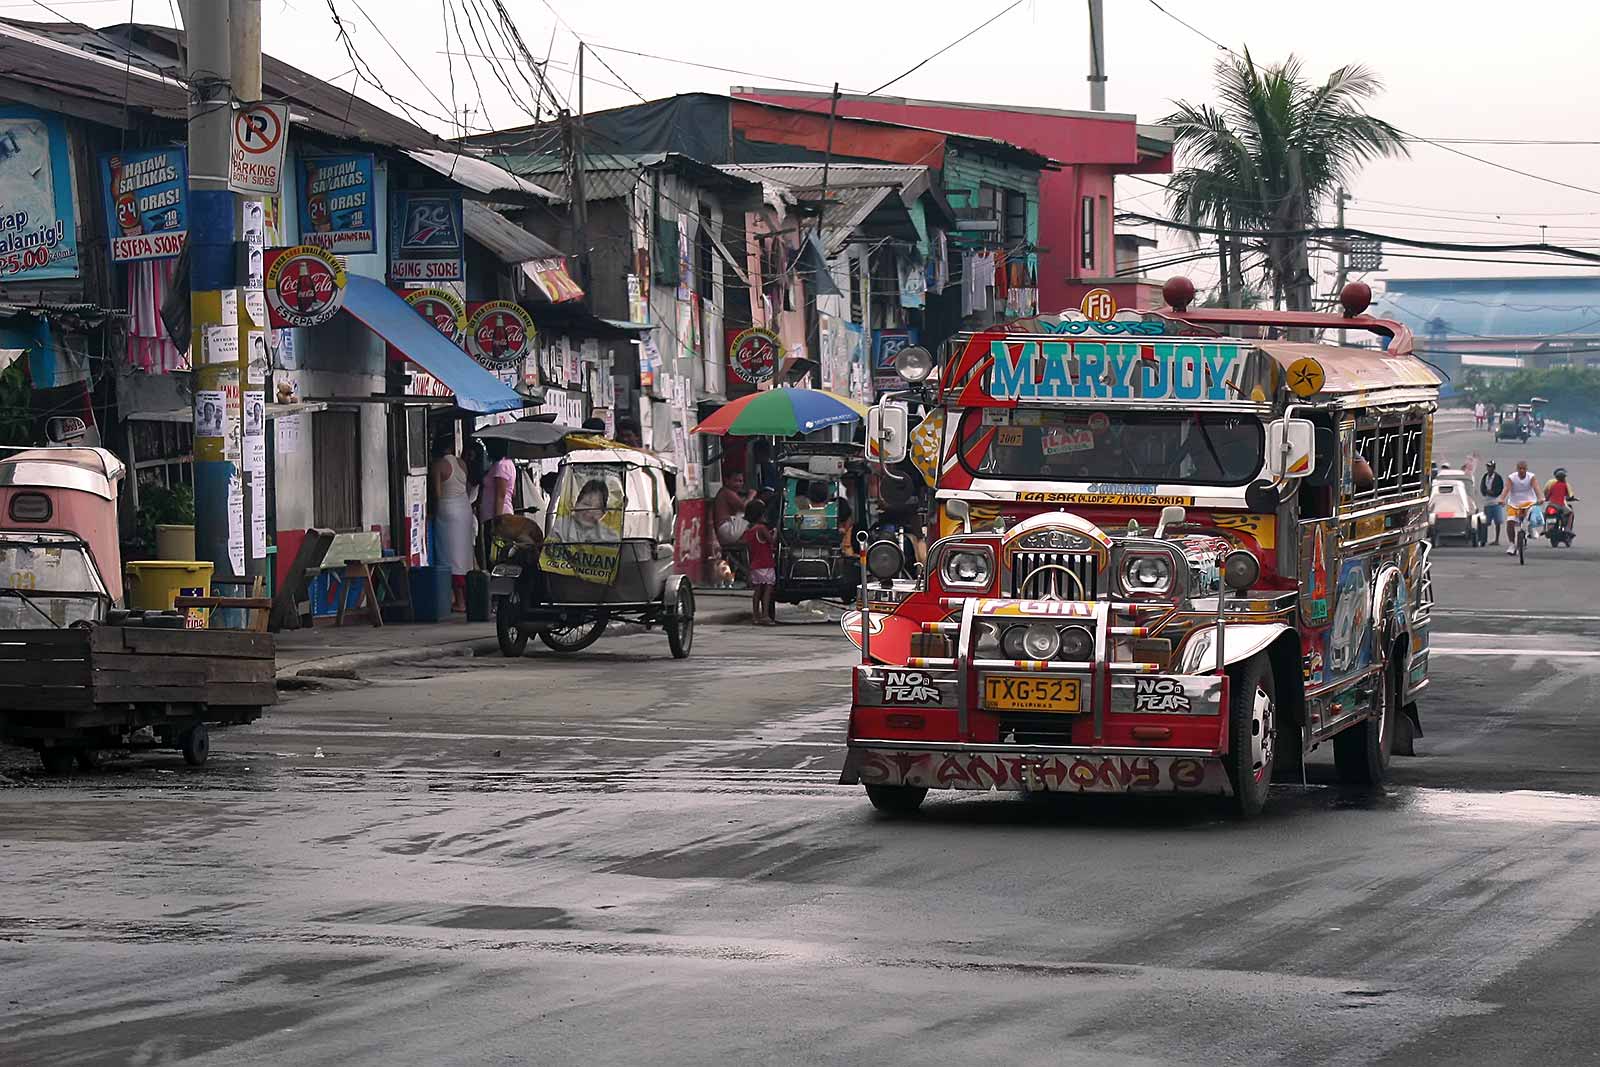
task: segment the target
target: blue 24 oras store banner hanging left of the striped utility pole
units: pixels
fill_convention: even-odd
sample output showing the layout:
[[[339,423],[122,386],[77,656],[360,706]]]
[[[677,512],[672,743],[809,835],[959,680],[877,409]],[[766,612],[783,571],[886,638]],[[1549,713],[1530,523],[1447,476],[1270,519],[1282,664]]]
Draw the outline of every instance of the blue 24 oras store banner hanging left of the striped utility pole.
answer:
[[[99,163],[112,262],[178,256],[189,235],[187,150],[106,152]]]

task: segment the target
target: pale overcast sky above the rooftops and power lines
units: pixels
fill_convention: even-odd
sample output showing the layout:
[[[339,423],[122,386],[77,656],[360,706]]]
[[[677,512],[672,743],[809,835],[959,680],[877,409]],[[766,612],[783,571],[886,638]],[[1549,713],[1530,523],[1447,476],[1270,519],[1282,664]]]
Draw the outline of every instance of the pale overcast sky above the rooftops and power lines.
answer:
[[[126,21],[130,11],[128,0],[45,2],[61,16],[96,26]],[[528,48],[541,59],[549,54],[552,85],[573,102],[574,34],[597,46],[746,72],[600,50],[597,54],[611,70],[594,56],[586,67],[584,101],[595,110],[637,101],[622,83],[645,98],[688,90],[725,93],[730,85],[826,90],[835,80],[845,90],[870,90],[1006,3],[507,0],[506,6]],[[474,126],[530,122],[526,109],[498,82],[493,64],[456,56],[451,78],[451,62],[443,54],[445,14],[451,10],[466,34],[462,48],[451,24],[451,51],[504,54],[506,45],[498,35],[491,40],[482,19],[469,18],[475,11],[491,11],[490,0],[333,0],[333,5],[374,77],[395,96],[438,115],[434,120],[418,114],[422,125],[446,133],[445,115],[461,109],[469,109]],[[1515,8],[1486,0],[1318,5],[1160,0],[1160,6],[1170,14],[1152,0],[1106,0],[1107,104],[1110,110],[1136,114],[1141,122],[1157,122],[1173,99],[1210,99],[1213,66],[1221,53],[1176,21],[1184,19],[1230,48],[1248,45],[1262,62],[1294,51],[1317,80],[1346,62],[1366,64],[1386,82],[1386,91],[1371,104],[1373,114],[1408,133],[1434,139],[1522,141],[1600,136],[1590,120],[1600,112],[1600,80],[1592,74],[1600,5],[1576,0],[1525,0]],[[170,24],[171,10],[173,0],[133,0],[138,21]],[[51,19],[38,3],[27,0],[0,0],[0,11],[13,18]],[[269,53],[346,88],[354,83],[352,62],[334,32],[328,0],[264,0],[262,11]],[[472,37],[474,24],[480,26],[482,45]],[[1085,0],[1024,0],[886,93],[1086,109],[1086,30]],[[779,78],[811,85],[792,86]],[[531,93],[515,78],[514,88],[523,102],[531,101]],[[370,85],[357,91],[392,106]],[[1550,243],[1600,248],[1600,144],[1453,147],[1597,192],[1563,189],[1416,144],[1410,158],[1374,163],[1360,176],[1350,190],[1355,202],[1349,224],[1466,243],[1539,240],[1544,224]],[[1122,179],[1118,206],[1154,213],[1163,206],[1162,192]],[[1163,251],[1182,248],[1178,235],[1163,232],[1160,237]],[[1403,259],[1402,251],[1387,250],[1387,272],[1397,277],[1594,272],[1592,267]],[[1197,282],[1206,282],[1205,267],[1197,264],[1194,269]]]

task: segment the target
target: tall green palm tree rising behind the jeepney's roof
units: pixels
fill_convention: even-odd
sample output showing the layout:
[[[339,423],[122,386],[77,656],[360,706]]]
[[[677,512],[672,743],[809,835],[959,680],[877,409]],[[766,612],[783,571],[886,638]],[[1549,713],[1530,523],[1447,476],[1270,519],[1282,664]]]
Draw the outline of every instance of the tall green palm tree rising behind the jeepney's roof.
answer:
[[[1322,85],[1306,80],[1294,56],[1258,67],[1250,50],[1216,67],[1219,106],[1178,101],[1163,118],[1186,166],[1168,182],[1173,213],[1190,226],[1259,230],[1222,240],[1222,285],[1243,291],[1243,251],[1259,250],[1275,299],[1310,307],[1306,240],[1317,210],[1350,184],[1368,160],[1408,155],[1405,136],[1362,104],[1382,88],[1378,75],[1346,66]]]

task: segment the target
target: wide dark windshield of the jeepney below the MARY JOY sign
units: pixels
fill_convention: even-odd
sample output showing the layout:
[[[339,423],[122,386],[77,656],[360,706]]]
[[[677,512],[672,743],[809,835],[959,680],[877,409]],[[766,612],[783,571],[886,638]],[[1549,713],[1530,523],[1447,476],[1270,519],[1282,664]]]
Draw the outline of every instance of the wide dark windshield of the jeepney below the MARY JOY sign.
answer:
[[[971,408],[960,422],[962,464],[979,478],[1238,486],[1261,474],[1264,442],[1238,413]]]

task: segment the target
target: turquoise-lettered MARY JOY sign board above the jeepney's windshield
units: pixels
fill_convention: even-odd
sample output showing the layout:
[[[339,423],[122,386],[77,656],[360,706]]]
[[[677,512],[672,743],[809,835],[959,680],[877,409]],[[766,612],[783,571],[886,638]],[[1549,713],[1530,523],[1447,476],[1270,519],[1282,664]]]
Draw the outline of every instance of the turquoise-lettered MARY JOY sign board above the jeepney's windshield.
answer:
[[[997,400],[1246,400],[1232,378],[1234,344],[994,341],[989,395]]]

